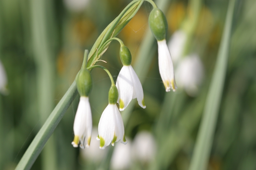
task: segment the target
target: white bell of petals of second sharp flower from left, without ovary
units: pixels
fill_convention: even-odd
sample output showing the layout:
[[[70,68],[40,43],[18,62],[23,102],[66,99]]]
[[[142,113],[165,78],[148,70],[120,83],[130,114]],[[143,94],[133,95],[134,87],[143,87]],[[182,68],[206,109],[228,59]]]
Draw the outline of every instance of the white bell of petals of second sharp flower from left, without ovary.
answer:
[[[108,104],[105,108],[99,120],[98,131],[97,140],[100,140],[100,149],[105,149],[110,143],[114,146],[114,142],[120,139],[121,143],[127,143],[124,137],[123,119],[116,104]]]

